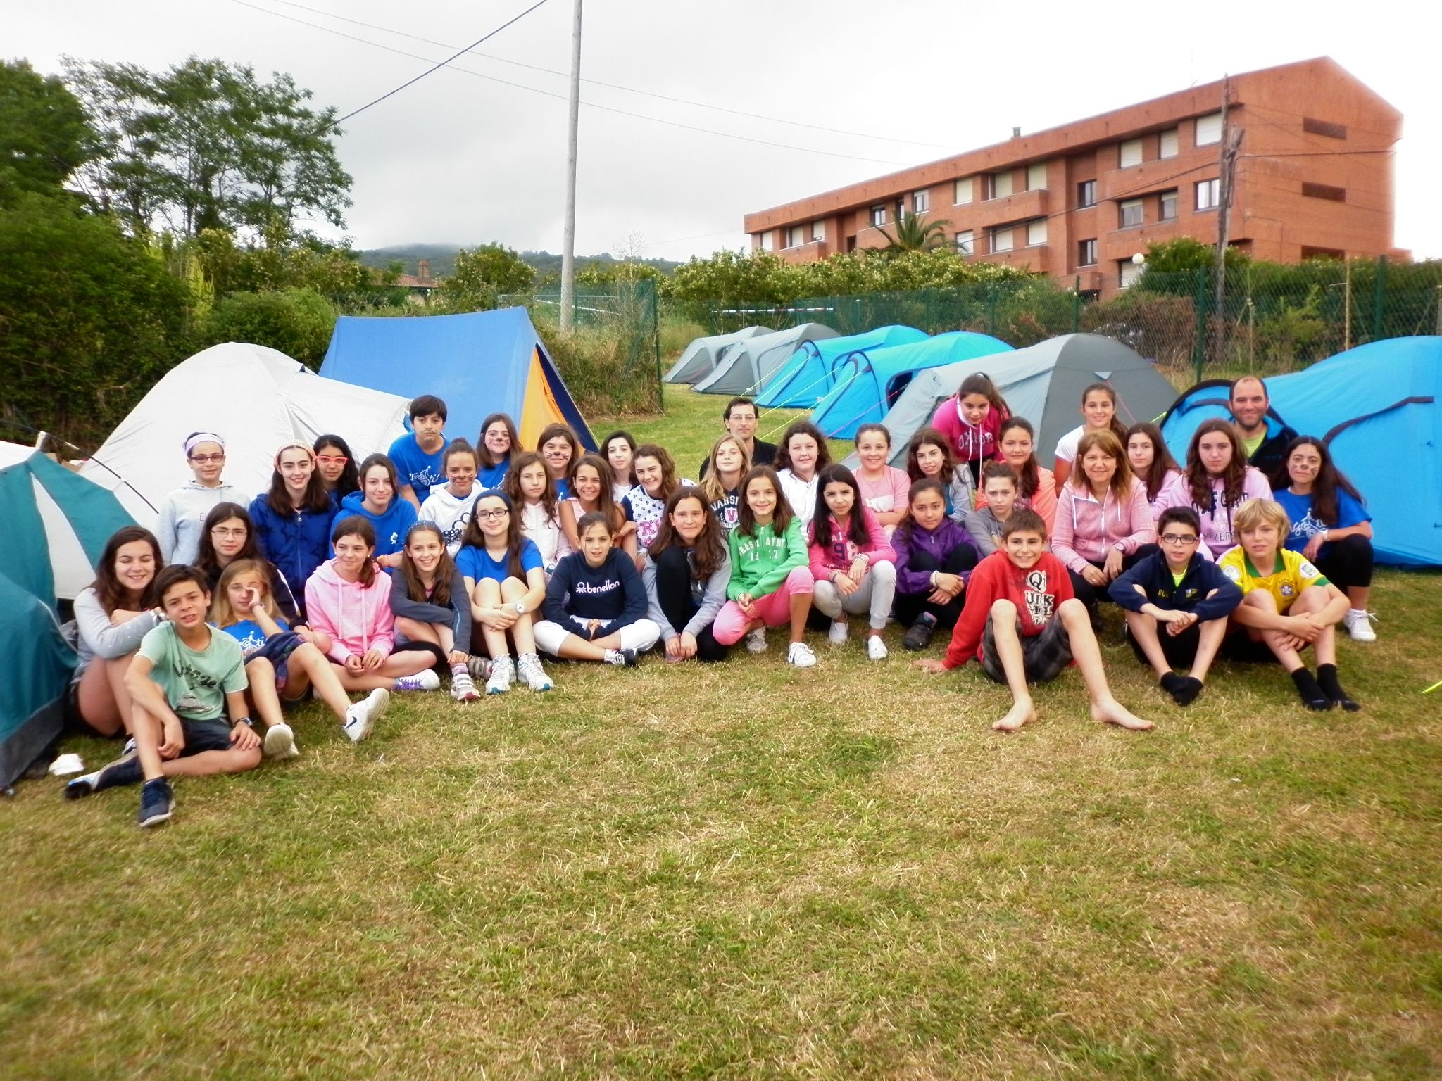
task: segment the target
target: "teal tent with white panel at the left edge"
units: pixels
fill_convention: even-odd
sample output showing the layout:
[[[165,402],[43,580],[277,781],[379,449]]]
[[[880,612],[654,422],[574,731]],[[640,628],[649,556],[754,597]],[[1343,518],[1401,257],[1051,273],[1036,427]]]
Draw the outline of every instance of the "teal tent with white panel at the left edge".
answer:
[[[0,787],[49,747],[63,724],[75,650],[56,597],[94,579],[105,540],[130,515],[105,489],[26,447],[0,447]]]

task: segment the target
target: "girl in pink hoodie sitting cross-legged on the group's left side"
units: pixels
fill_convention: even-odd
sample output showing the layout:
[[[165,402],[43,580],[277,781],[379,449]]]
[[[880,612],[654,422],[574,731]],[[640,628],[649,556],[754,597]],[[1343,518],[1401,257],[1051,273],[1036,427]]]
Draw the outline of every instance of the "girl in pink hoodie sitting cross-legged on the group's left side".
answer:
[[[435,690],[435,657],[395,649],[391,577],[375,562],[375,529],[353,515],[330,535],[335,558],[306,581],[306,613],[346,690]]]

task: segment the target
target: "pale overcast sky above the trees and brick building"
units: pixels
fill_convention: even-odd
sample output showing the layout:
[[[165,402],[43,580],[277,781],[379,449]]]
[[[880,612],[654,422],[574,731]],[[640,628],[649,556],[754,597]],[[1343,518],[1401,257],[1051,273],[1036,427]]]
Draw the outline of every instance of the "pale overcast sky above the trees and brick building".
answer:
[[[345,114],[531,3],[61,0],[12,6],[0,50],[46,72],[66,53],[153,69],[218,56],[290,72]],[[748,210],[996,143],[1012,125],[1037,131],[1330,55],[1402,110],[1394,242],[1442,257],[1426,180],[1442,173],[1435,35],[1354,3],[1259,0],[1240,23],[1198,10],[585,0],[577,252],[738,248]],[[561,249],[571,16],[571,0],[547,0],[457,63],[473,74],[437,71],[343,125],[356,246]]]

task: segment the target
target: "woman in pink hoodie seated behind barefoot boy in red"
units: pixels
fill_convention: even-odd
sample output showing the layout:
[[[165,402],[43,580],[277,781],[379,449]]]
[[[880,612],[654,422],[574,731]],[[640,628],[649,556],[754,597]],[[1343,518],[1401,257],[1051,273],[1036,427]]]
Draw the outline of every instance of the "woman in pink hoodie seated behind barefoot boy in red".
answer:
[[[1076,468],[1057,496],[1051,553],[1066,564],[1071,591],[1089,611],[1110,600],[1106,587],[1156,542],[1146,486],[1132,476],[1120,440],[1107,428],[1082,435]]]

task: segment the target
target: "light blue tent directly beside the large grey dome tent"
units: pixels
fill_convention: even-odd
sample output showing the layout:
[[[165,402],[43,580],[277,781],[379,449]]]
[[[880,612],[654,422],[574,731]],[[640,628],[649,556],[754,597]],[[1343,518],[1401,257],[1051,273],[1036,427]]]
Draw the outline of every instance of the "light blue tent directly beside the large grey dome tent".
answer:
[[[835,386],[816,405],[812,422],[829,438],[849,440],[862,424],[884,419],[917,372],[1009,350],[999,337],[969,330],[888,349],[852,350],[835,365]]]

